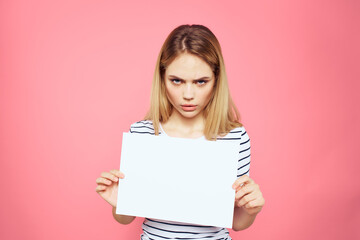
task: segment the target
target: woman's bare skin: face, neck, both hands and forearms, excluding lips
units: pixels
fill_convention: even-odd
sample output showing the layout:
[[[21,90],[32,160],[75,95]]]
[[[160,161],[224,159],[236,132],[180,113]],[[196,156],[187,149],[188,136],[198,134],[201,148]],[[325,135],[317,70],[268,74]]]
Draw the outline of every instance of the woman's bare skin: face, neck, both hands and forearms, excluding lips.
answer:
[[[200,80],[203,77],[207,78]],[[197,56],[181,54],[167,67],[165,87],[173,106],[169,120],[162,123],[167,135],[183,138],[203,136],[203,110],[211,99],[214,84],[210,66]],[[196,109],[185,111],[182,104],[196,105]],[[128,224],[135,219],[134,216],[115,214],[118,181],[124,177],[124,173],[116,169],[101,173],[96,179],[96,192],[113,206],[114,218],[122,224]],[[259,185],[247,175],[239,177],[232,188],[235,190],[233,230],[239,231],[251,226],[265,204],[265,199]]]

